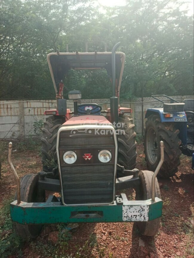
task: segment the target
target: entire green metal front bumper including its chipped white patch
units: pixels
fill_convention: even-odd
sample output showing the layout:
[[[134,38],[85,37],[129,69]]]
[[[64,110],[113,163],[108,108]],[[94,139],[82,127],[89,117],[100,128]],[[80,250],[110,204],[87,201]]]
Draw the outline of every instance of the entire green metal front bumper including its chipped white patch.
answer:
[[[44,203],[13,201],[11,218],[20,224],[52,224],[79,222],[135,222],[150,221],[161,217],[162,200],[128,201],[122,194],[122,203],[114,201],[101,206],[64,206],[53,195]]]

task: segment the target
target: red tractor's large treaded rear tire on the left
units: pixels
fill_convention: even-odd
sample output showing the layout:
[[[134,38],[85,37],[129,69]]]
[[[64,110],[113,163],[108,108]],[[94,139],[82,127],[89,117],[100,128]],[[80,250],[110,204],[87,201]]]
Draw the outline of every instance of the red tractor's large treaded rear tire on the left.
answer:
[[[42,164],[44,172],[52,172],[57,167],[57,132],[58,128],[64,123],[64,119],[59,116],[48,116],[42,128]]]

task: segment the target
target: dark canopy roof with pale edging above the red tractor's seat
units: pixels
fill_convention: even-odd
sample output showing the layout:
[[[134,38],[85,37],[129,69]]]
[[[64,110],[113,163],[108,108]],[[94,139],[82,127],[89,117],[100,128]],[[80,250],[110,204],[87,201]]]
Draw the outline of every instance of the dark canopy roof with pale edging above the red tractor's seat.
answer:
[[[112,52],[74,52],[74,53],[50,53],[47,61],[56,94],[58,94],[58,84],[68,74],[70,69],[106,69],[112,78]],[[121,79],[123,75],[125,54],[116,52],[116,90],[119,96]]]

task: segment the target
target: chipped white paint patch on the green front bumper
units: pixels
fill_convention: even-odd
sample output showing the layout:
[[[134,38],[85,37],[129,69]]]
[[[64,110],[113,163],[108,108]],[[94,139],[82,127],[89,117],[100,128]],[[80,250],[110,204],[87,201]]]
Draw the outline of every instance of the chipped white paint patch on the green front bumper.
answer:
[[[149,206],[129,205],[123,206],[123,221],[148,221]]]

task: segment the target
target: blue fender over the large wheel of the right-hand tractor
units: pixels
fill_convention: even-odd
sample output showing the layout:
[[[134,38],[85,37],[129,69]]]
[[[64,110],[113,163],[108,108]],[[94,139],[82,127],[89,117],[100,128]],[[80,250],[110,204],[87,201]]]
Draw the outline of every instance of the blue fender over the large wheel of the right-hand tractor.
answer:
[[[169,114],[170,112],[168,112]],[[185,112],[173,112],[173,117],[164,117],[163,108],[148,108],[146,111],[145,118],[148,118],[151,115],[159,115],[161,122],[174,122],[176,123],[176,128],[180,131],[179,139],[181,139],[181,143],[186,146],[187,145],[187,116]]]

